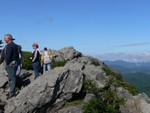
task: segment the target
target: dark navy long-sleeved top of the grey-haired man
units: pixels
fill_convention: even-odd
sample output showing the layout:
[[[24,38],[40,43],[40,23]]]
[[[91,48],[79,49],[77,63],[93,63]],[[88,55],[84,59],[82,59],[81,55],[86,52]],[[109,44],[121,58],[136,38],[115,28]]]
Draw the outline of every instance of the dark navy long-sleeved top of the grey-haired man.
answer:
[[[12,61],[19,61],[18,45],[14,42],[7,44],[2,51],[2,59],[9,65]]]

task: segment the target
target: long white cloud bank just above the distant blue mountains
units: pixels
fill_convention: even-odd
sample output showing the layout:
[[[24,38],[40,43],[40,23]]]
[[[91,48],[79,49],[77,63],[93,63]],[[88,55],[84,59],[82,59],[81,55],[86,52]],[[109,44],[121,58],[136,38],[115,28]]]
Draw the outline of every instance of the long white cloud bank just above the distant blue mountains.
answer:
[[[150,53],[107,53],[102,55],[96,55],[96,58],[100,60],[123,60],[127,62],[150,62]]]

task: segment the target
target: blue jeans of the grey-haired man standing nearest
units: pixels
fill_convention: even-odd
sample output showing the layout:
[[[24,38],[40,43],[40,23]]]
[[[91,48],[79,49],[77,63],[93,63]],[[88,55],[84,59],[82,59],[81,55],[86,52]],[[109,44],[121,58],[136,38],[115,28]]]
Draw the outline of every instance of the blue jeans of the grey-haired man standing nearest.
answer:
[[[16,62],[14,65],[6,65],[6,71],[8,73],[11,96],[15,94],[17,68],[18,68],[18,62]]]

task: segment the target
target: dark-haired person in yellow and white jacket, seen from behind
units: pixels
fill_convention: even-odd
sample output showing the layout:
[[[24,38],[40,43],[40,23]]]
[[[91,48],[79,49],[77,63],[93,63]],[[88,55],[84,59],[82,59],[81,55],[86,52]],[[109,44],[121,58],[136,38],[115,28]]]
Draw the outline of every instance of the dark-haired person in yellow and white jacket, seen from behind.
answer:
[[[52,57],[53,56],[50,53],[50,51],[48,51],[48,49],[45,47],[41,56],[41,65],[43,66],[43,73],[51,69]]]

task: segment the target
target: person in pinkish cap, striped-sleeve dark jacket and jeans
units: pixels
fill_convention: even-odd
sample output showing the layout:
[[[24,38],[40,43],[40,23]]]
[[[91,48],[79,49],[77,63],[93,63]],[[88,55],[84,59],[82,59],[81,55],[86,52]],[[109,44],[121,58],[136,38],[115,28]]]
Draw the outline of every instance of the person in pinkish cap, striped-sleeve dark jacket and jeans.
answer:
[[[35,73],[35,79],[40,76],[39,74],[39,65],[40,65],[40,52],[38,50],[39,45],[34,43],[32,45],[34,52],[32,54],[32,66]]]

